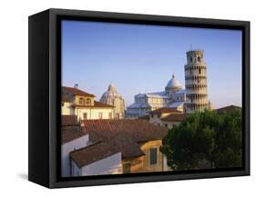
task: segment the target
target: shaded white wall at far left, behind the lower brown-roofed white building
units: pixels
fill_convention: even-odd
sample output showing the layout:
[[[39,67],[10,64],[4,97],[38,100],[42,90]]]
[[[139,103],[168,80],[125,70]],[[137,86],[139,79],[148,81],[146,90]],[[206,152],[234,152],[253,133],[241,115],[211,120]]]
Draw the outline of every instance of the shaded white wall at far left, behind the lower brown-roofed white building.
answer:
[[[61,146],[61,174],[63,177],[70,176],[69,153],[79,148],[86,147],[88,143],[88,134],[77,138]]]

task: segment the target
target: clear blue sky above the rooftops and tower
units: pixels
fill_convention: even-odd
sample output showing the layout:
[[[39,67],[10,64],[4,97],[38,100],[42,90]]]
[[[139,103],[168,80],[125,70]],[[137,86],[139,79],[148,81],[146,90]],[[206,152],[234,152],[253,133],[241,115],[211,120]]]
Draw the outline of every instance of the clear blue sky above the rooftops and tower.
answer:
[[[62,22],[62,83],[99,100],[108,84],[126,105],[163,91],[174,73],[185,86],[186,51],[204,50],[214,107],[241,106],[241,31],[84,21]]]

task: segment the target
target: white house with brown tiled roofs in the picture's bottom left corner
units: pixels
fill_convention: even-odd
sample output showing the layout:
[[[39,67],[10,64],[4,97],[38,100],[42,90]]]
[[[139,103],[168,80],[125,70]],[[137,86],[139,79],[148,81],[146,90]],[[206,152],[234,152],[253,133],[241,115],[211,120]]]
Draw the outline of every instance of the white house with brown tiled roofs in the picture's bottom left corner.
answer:
[[[118,149],[90,142],[89,134],[77,122],[76,115],[62,115],[62,177],[114,173],[122,173]]]

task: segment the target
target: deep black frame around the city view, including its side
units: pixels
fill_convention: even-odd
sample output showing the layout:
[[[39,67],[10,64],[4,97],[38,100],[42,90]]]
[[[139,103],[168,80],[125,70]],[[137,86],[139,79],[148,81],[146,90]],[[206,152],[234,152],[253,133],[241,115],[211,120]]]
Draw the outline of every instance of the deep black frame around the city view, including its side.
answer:
[[[93,177],[60,177],[60,20],[172,25],[242,31],[243,167],[219,171],[154,172]],[[28,180],[48,188],[159,182],[250,175],[250,22],[163,15],[48,9],[28,20]],[[38,113],[40,112],[40,113]]]

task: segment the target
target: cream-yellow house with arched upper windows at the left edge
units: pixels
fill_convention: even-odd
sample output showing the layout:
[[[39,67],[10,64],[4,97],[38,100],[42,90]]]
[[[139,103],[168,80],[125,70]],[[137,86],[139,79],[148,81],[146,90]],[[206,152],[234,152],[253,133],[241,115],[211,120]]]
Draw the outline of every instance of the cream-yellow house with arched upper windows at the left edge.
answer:
[[[61,110],[63,115],[77,115],[79,120],[113,119],[114,106],[100,103],[96,96],[76,87],[62,87]]]

